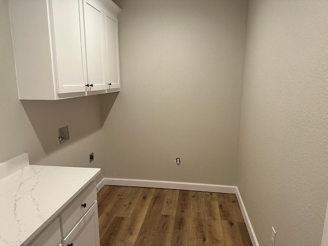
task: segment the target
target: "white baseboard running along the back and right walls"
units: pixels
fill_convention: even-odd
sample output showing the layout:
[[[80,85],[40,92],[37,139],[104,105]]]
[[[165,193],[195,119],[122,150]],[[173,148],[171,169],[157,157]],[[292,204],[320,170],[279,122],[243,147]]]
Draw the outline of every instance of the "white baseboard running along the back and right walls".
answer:
[[[174,181],[162,181],[162,180],[103,178],[101,179],[100,182],[97,183],[97,192],[100,191],[101,188],[103,188],[104,186],[148,187],[148,188],[235,194],[238,199],[240,210],[244,218],[247,230],[250,234],[252,244],[253,246],[259,246],[250,218],[248,217],[247,211],[245,209],[244,203],[241,199],[237,186],[221,186],[221,185],[211,185],[208,183],[189,183],[189,182],[174,182]]]

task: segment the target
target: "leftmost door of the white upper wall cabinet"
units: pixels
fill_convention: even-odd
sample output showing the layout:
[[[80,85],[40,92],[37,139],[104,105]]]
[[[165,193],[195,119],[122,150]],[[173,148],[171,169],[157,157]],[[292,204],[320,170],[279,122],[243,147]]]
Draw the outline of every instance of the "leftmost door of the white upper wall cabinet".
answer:
[[[50,3],[57,93],[86,91],[83,21],[79,14],[82,0],[51,0]]]

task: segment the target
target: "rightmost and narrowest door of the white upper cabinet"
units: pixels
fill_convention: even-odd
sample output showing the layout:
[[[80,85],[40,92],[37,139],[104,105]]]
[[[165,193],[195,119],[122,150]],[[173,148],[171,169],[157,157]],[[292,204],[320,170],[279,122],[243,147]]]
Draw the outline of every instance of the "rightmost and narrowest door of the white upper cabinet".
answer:
[[[106,75],[109,89],[120,88],[117,18],[105,11]]]

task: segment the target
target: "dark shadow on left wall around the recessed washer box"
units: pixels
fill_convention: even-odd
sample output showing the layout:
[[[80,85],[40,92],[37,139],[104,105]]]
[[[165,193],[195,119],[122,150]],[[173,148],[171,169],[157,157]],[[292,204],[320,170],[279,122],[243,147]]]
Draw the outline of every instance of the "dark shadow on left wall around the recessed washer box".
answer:
[[[21,100],[45,153],[72,145],[101,130],[99,96],[64,100]],[[59,145],[58,128],[69,126],[70,140]]]

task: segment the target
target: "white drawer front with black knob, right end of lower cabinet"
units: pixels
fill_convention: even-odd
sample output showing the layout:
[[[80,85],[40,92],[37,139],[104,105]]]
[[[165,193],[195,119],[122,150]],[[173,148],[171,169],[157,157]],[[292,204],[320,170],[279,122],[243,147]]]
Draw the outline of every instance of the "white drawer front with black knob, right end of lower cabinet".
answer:
[[[84,216],[95,200],[97,200],[97,191],[96,182],[93,181],[69,204],[69,206],[67,206],[65,211],[60,214],[64,235],[66,235],[77,221]],[[84,208],[82,204],[86,207]]]

